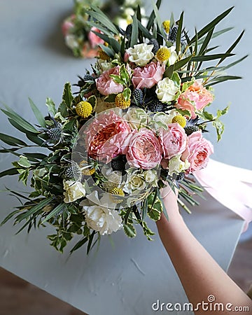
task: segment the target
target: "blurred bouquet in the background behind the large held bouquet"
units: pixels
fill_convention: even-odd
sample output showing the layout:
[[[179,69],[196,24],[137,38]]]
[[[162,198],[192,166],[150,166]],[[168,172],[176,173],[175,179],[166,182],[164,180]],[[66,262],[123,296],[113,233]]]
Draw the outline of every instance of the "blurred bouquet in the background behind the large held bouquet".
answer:
[[[92,31],[99,31],[90,24],[87,10],[90,5],[102,6],[102,12],[106,13],[118,27],[126,29],[132,22],[132,15],[140,0],[113,0],[102,3],[101,0],[74,0],[73,14],[62,23],[62,33],[66,46],[70,48],[75,57],[94,58],[99,54],[99,44],[104,43],[102,38]],[[144,12],[144,8],[141,8]]]

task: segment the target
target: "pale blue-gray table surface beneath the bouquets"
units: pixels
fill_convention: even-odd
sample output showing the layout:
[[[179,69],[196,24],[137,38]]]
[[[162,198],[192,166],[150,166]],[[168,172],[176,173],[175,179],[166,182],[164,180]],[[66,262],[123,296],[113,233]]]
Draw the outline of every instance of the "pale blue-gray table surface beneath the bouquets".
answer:
[[[162,18],[169,18],[171,11],[179,17],[181,10],[185,10],[185,25],[192,34],[194,26],[202,27],[206,21],[235,5],[230,18],[223,22],[223,28],[235,26],[234,39],[246,29],[236,52],[238,57],[251,52],[250,1],[193,0],[190,6],[187,3],[185,0],[163,1]],[[75,59],[64,46],[59,26],[71,12],[71,7],[71,0],[0,0],[0,101],[32,123],[35,120],[28,97],[46,114],[46,97],[59,104],[64,83],[76,83],[76,76],[83,75],[86,68],[90,69],[91,60]],[[220,43],[228,48],[232,38],[228,34],[224,38]],[[214,159],[251,169],[251,57],[230,69],[229,73],[244,76],[244,79],[216,86],[216,108],[232,104],[224,119],[223,141],[216,144],[214,132],[209,134],[209,139],[215,145]],[[0,120],[0,132],[18,136],[2,113]],[[11,160],[13,157],[1,155],[1,169],[10,167]],[[14,178],[1,179],[0,189],[4,186],[23,189]],[[207,198],[201,207],[193,209],[193,215],[184,214],[184,217],[193,234],[221,267],[227,269],[243,221],[210,196]],[[1,193],[0,220],[15,205],[16,200]],[[154,223],[150,225],[156,230]],[[166,303],[187,301],[157,236],[150,242],[141,230],[136,239],[128,239],[120,231],[111,236],[113,246],[111,239],[104,237],[98,252],[87,257],[85,250],[80,249],[69,258],[69,248],[64,255],[50,248],[45,238],[52,232],[50,227],[33,231],[28,236],[26,232],[15,236],[16,231],[11,223],[0,229],[1,267],[90,315],[148,315],[155,313],[151,305],[158,299]]]

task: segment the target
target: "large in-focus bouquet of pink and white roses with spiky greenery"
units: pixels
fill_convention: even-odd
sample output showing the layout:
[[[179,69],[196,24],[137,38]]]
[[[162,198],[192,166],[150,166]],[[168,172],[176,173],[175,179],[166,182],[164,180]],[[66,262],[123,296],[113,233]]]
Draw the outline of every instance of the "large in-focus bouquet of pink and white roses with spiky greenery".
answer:
[[[234,55],[243,32],[224,53],[214,54],[211,38],[230,30],[215,27],[232,8],[189,36],[183,13],[179,20],[171,15],[162,22],[160,4],[153,4],[146,26],[138,7],[125,31],[90,5],[88,23],[104,44],[97,62],[74,85],[76,91],[66,83],[58,107],[48,98],[46,117],[30,99],[38,126],[8,106],[2,109],[31,144],[0,134],[11,146],[1,152],[18,156],[0,176],[18,174],[27,185],[30,175],[32,188],[27,195],[9,190],[23,202],[2,224],[25,222],[19,232],[29,232],[50,223],[55,234],[48,239],[57,250],[78,235],[71,252],[87,244],[88,253],[102,235],[122,228],[134,237],[135,225],[151,239],[148,219],[157,221],[162,211],[167,216],[160,197],[165,186],[179,190],[178,202],[186,211],[197,204],[195,195],[203,188],[193,174],[207,166],[214,151],[204,133],[211,124],[220,140],[220,118],[228,111],[209,113],[213,85],[240,78],[224,73],[244,57],[223,62]],[[31,146],[45,152],[24,151]]]

